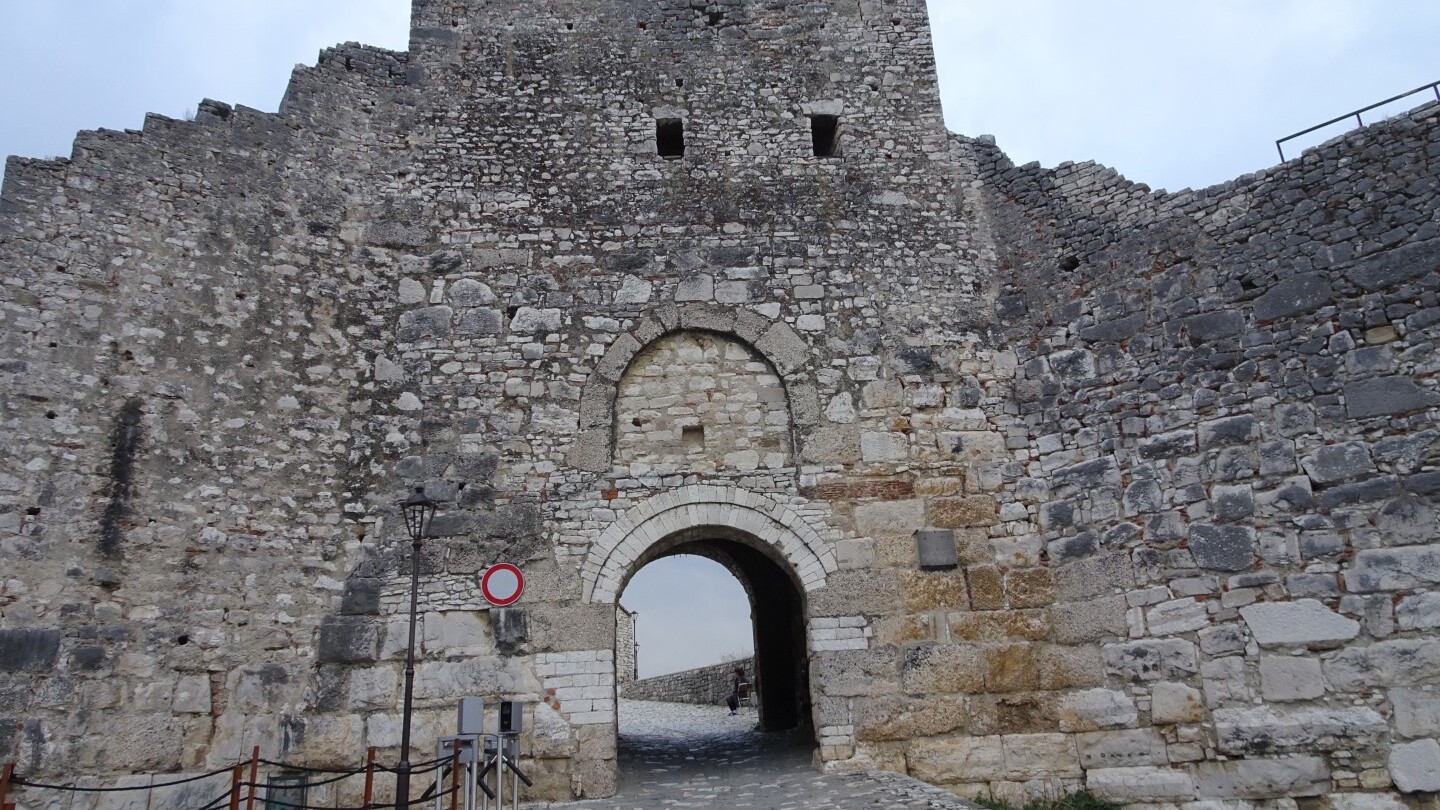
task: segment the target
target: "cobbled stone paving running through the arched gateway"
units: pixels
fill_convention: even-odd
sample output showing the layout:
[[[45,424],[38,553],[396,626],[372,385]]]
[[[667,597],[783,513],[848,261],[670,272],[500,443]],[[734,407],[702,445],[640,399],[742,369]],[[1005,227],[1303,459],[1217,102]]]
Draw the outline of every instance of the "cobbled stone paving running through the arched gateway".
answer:
[[[822,774],[814,741],[755,731],[756,711],[621,700],[621,788],[613,798],[531,807],[671,810],[936,809],[973,804],[900,774]]]

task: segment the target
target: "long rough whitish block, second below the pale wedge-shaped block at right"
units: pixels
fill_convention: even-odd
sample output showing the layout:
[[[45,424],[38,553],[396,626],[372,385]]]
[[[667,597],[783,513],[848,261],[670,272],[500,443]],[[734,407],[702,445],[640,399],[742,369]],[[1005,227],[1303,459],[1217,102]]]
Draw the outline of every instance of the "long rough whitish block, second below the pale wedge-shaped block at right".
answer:
[[[1214,719],[1220,749],[1246,757],[1280,751],[1349,749],[1374,745],[1390,734],[1385,718],[1368,708],[1215,709]]]

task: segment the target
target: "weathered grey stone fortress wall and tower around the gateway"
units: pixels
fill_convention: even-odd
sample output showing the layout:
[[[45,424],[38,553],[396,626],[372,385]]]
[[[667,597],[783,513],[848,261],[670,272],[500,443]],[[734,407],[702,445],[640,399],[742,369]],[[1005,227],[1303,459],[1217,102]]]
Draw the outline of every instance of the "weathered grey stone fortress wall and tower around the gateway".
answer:
[[[278,114],[10,160],[0,760],[393,760],[423,484],[416,739],[526,700],[536,797],[613,793],[616,600],[685,552],[827,768],[1434,806],[1437,160],[1430,105],[1015,167],[922,0],[416,0]]]

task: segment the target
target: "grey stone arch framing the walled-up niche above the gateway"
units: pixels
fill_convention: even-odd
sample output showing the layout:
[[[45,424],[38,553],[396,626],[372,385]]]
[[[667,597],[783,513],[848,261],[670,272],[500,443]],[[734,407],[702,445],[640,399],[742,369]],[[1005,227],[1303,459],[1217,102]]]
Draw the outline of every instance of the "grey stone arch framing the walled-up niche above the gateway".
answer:
[[[819,395],[805,373],[812,352],[788,323],[740,307],[667,304],[641,319],[631,331],[621,333],[590,372],[580,392],[580,431],[566,454],[567,464],[590,473],[611,470],[621,379],[641,350],[680,331],[708,331],[739,340],[779,373],[789,401],[791,425],[806,430],[819,424]]]

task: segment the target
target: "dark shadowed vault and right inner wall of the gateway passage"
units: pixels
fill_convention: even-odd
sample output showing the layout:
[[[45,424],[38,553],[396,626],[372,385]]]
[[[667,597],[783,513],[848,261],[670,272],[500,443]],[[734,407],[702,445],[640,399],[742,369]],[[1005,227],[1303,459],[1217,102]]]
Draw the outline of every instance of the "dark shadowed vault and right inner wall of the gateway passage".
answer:
[[[805,597],[783,558],[776,559],[755,536],[724,526],[697,526],[667,536],[647,549],[629,569],[696,555],[724,566],[750,601],[755,672],[762,731],[788,731],[809,722],[809,660],[805,646]],[[629,578],[626,578],[626,582]],[[624,594],[624,584],[621,587]]]

